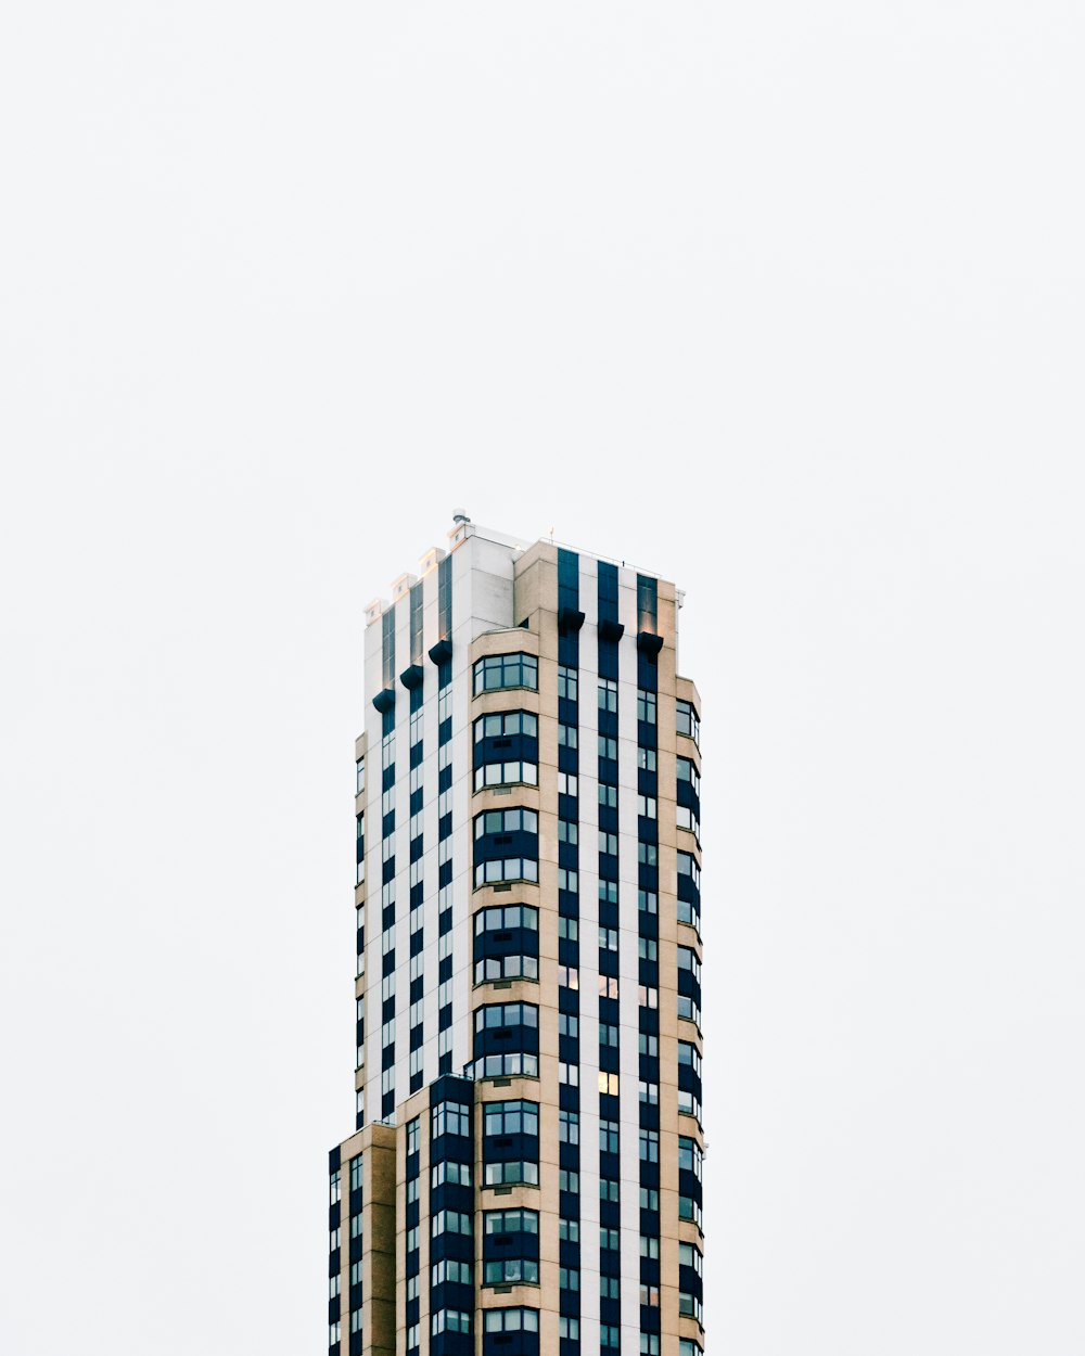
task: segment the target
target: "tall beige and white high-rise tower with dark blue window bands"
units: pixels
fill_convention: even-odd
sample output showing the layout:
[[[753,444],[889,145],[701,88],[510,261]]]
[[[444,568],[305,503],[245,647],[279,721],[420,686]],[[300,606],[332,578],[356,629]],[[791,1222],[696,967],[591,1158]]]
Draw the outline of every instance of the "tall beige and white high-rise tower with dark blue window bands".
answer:
[[[461,515],[366,609],[330,1356],[701,1356],[681,598]]]

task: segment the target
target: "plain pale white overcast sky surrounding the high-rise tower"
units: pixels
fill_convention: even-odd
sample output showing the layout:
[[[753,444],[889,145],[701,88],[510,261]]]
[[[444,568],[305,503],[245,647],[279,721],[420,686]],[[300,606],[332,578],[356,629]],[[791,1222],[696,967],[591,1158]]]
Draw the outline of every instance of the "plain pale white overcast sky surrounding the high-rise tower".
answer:
[[[321,1351],[362,606],[688,593],[709,1356],[1085,1349],[1085,12],[0,18],[0,1349]]]

